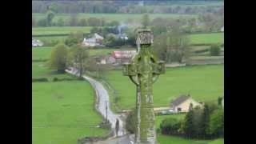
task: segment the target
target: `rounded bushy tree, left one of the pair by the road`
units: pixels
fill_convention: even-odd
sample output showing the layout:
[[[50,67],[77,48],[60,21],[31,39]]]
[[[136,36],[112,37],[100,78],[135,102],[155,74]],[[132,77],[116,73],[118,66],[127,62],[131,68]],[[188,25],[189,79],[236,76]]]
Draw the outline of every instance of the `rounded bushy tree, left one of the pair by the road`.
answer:
[[[64,72],[67,64],[67,46],[60,43],[54,47],[50,55],[49,66],[58,72]]]

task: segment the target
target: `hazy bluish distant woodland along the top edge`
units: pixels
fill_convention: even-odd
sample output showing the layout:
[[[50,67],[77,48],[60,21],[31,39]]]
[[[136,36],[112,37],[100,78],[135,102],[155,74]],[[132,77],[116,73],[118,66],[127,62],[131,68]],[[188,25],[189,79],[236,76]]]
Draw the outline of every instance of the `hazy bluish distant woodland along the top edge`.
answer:
[[[195,2],[192,2],[195,4]],[[180,2],[171,5],[171,2],[144,2],[140,6],[138,2],[132,1],[90,1],[90,2],[40,2],[32,1],[33,13],[45,13],[48,8],[56,13],[167,13],[167,14],[198,14],[205,12],[218,12],[222,6],[202,5],[191,6],[189,3]],[[178,5],[178,6],[177,6]]]

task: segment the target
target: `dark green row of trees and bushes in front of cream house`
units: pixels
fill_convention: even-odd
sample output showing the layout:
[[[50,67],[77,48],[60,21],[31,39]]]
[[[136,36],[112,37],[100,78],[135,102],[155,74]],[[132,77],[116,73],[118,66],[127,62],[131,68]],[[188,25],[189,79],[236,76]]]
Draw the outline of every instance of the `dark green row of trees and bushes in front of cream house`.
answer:
[[[199,139],[224,137],[224,110],[222,106],[206,103],[203,108],[192,107],[190,105],[190,111],[182,120],[164,119],[160,125],[161,133]]]

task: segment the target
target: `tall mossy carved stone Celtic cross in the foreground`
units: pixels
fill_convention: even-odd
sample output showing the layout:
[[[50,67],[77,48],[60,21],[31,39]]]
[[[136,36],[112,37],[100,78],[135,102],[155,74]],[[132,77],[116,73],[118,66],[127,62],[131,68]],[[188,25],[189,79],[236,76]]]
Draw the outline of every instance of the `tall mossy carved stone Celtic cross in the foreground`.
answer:
[[[152,43],[150,30],[138,30],[138,53],[130,63],[123,64],[123,74],[137,86],[134,142],[139,144],[156,144],[152,85],[165,72],[165,64],[154,55]]]

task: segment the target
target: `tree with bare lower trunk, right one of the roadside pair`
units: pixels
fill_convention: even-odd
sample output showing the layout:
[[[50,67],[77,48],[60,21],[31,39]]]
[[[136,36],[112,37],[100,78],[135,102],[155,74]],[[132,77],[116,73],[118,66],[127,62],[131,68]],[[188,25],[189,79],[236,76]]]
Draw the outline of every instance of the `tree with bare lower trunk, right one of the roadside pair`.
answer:
[[[89,52],[86,47],[81,46],[80,44],[71,47],[70,60],[73,63],[74,67],[78,68],[79,78],[82,78],[87,58],[89,58]]]

